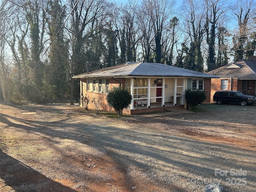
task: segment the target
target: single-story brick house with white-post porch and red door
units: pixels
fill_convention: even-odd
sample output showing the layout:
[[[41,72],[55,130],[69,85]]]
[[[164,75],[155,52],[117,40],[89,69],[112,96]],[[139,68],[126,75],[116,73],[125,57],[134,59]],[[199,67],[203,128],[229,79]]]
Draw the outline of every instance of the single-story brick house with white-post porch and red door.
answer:
[[[184,108],[187,88],[205,90],[205,102],[210,102],[211,78],[218,77],[159,63],[126,62],[73,78],[80,79],[81,107],[95,108],[97,98],[102,110],[114,110],[108,106],[106,94],[112,87],[121,85],[132,95],[132,102],[123,113],[140,114],[171,107]]]

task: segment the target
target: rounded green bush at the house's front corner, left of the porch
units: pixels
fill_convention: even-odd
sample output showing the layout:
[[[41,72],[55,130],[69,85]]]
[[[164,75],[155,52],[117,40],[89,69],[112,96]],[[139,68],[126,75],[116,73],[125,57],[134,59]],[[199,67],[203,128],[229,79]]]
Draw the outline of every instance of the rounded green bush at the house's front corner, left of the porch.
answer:
[[[132,101],[132,96],[128,90],[122,87],[113,87],[107,95],[109,106],[113,107],[118,116],[123,115],[123,109],[128,107]]]

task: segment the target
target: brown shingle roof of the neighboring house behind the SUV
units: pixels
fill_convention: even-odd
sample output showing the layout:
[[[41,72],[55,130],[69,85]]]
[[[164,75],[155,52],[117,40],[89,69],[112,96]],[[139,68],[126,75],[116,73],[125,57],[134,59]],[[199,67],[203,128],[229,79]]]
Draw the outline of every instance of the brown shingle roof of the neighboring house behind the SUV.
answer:
[[[217,75],[220,77],[256,78],[256,61],[239,60],[232,64],[238,66],[238,68],[228,68],[228,66],[231,65],[229,64],[214,69],[207,74]]]

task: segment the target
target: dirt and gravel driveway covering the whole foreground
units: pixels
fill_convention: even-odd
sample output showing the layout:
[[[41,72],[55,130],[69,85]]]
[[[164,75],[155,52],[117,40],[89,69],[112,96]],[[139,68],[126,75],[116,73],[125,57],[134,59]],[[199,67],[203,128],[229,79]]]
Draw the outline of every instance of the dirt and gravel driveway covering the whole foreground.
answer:
[[[2,192],[255,192],[256,105],[95,115],[78,105],[0,104]]]

